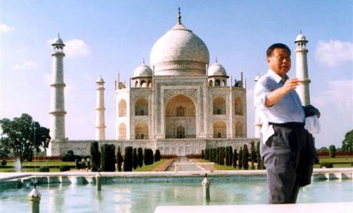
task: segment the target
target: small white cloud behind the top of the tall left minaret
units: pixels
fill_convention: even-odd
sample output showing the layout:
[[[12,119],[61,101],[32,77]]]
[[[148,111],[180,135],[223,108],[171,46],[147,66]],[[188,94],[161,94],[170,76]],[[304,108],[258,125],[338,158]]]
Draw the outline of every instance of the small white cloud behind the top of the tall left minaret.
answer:
[[[53,44],[56,39],[48,39],[46,43]],[[66,57],[85,57],[91,53],[89,46],[82,39],[64,41]]]

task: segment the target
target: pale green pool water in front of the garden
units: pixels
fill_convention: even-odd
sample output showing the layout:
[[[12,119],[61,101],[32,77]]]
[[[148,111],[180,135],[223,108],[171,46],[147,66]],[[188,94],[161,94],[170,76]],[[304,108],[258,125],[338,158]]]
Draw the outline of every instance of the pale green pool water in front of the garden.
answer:
[[[201,181],[39,185],[41,212],[154,212],[158,205],[206,205]],[[210,178],[208,205],[266,203],[266,178]],[[29,212],[32,187],[0,192],[0,212]],[[298,203],[352,202],[352,180],[322,180],[300,189]]]

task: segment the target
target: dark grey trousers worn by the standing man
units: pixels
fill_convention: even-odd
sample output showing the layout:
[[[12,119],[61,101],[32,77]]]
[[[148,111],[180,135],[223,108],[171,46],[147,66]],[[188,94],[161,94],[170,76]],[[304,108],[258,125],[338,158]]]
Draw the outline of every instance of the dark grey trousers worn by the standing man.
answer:
[[[273,125],[273,129],[275,134],[265,144],[260,142],[267,174],[267,202],[296,203],[300,177],[307,166],[307,131],[299,123]]]

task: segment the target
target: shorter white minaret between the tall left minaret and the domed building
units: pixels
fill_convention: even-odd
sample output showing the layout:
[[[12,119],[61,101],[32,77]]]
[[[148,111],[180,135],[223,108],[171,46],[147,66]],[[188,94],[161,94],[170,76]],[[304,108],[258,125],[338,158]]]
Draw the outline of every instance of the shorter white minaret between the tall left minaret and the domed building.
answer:
[[[100,77],[96,83],[96,140],[105,140],[105,81]]]

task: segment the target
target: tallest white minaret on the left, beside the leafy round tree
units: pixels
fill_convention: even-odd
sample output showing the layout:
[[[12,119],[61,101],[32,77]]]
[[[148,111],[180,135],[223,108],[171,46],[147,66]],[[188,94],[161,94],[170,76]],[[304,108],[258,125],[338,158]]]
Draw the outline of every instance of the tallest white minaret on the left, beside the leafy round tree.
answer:
[[[51,71],[51,143],[47,149],[48,156],[60,156],[60,142],[65,139],[65,107],[64,107],[64,67],[63,58],[64,42],[57,35],[57,40],[52,44],[53,57],[52,71]]]

